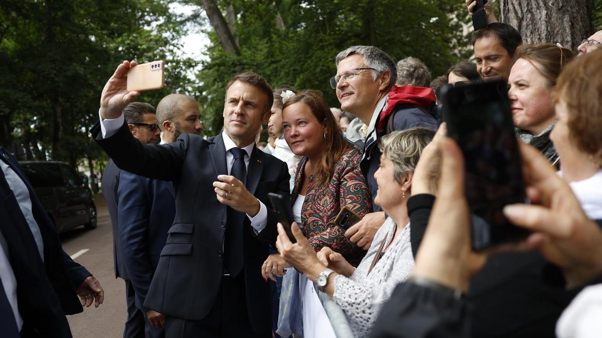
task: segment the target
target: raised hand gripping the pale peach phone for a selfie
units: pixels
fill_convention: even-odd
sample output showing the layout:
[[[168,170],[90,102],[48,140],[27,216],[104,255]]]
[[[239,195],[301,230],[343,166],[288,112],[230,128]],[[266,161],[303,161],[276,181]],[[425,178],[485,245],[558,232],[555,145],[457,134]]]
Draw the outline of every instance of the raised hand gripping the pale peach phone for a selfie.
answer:
[[[134,101],[136,96],[140,95],[139,91],[127,90],[128,71],[131,67],[135,67],[136,61],[123,61],[113,76],[105,84],[105,88],[101,94],[101,116],[102,118],[117,118],[122,114],[123,108]]]

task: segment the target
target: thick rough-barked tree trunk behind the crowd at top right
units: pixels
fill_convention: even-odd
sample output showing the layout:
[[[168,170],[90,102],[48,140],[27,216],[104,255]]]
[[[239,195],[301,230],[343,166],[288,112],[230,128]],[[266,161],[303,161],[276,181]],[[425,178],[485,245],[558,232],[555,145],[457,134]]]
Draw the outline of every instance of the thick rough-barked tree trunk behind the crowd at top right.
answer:
[[[552,42],[577,50],[592,32],[589,0],[499,0],[500,21],[521,32],[524,43]]]

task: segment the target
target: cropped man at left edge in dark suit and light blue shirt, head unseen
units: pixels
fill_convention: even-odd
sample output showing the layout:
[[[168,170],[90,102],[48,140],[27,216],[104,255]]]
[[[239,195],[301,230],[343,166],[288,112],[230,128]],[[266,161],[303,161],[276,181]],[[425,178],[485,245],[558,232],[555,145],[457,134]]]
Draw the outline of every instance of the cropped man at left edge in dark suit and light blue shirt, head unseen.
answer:
[[[98,307],[104,291],[64,253],[25,173],[2,147],[0,217],[0,335],[72,337],[65,315]]]

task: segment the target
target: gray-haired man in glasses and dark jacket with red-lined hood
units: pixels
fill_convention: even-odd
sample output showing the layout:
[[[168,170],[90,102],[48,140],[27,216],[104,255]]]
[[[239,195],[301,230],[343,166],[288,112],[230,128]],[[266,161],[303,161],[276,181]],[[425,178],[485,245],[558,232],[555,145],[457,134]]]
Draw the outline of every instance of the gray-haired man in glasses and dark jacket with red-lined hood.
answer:
[[[367,125],[360,165],[374,199],[378,189],[374,173],[380,165],[379,138],[391,131],[414,127],[436,129],[438,121],[415,102],[388,105],[388,94],[396,83],[397,70],[391,57],[380,49],[351,46],[337,55],[336,64],[337,74],[330,79],[330,87],[337,90],[341,109],[359,117]],[[386,128],[389,117],[393,118],[393,122],[391,128]],[[385,213],[374,205],[374,212],[350,227],[345,236],[367,250],[384,221]]]

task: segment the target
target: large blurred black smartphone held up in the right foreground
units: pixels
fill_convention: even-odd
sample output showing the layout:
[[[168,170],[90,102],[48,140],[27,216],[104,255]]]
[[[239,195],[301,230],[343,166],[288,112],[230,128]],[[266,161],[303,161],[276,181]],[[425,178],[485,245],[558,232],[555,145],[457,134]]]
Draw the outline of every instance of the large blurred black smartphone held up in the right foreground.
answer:
[[[441,93],[448,136],[464,153],[474,250],[524,238],[529,232],[502,212],[506,204],[529,202],[506,83],[469,82]]]

